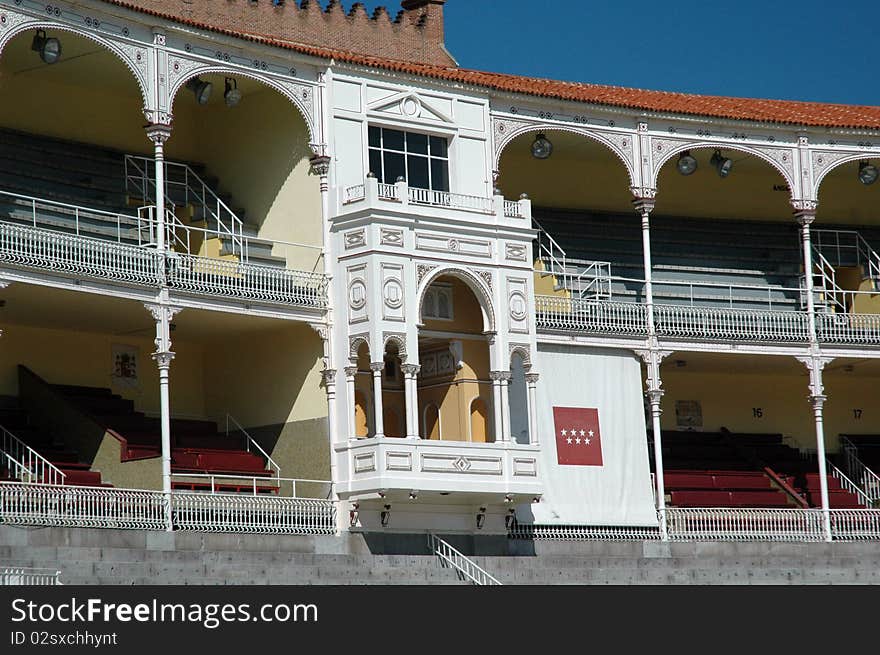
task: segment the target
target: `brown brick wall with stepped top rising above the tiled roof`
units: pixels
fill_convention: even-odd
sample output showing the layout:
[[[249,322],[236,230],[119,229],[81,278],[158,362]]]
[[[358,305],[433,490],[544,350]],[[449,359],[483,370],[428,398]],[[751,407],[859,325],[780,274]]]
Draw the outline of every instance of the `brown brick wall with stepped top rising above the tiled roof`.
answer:
[[[385,7],[368,15],[339,0],[108,0],[113,4],[209,27],[302,45],[439,66],[456,66],[443,44],[445,0],[403,0],[392,18]]]

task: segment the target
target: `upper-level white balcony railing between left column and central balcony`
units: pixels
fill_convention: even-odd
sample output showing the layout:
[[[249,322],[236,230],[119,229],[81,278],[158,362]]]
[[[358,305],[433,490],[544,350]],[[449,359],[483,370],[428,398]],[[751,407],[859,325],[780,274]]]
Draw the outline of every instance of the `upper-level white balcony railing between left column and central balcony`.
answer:
[[[170,253],[168,285],[204,295],[324,308],[327,278],[321,273]]]

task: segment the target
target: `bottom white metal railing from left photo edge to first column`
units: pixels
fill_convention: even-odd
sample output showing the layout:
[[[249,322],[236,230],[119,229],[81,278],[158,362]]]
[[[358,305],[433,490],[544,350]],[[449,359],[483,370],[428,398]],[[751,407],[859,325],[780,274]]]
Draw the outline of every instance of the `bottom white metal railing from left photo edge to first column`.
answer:
[[[161,491],[0,483],[0,523],[164,530]]]

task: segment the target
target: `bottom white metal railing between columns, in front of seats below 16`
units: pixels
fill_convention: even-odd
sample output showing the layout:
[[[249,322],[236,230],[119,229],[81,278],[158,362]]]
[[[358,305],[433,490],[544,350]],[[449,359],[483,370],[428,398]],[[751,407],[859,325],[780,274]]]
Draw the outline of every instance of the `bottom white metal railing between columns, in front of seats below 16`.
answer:
[[[666,508],[671,541],[823,541],[816,509]]]

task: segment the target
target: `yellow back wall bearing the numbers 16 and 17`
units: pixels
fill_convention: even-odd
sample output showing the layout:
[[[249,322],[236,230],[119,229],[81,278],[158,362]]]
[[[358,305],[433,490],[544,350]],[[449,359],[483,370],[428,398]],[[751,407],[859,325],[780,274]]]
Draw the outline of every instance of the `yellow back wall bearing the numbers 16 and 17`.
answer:
[[[699,400],[704,431],[724,426],[732,432],[779,433],[792,437],[801,447],[816,447],[806,369],[803,375],[725,375],[676,369],[661,374],[666,390],[661,417],[664,430],[676,429],[676,400]],[[825,443],[829,452],[838,449],[838,434],[880,434],[875,378],[831,370],[824,381],[828,396]],[[761,417],[755,416],[753,408],[761,410]]]

